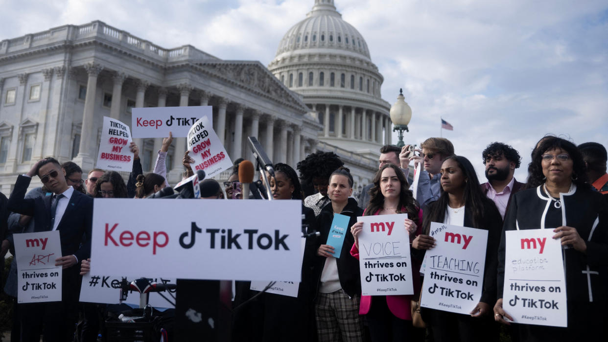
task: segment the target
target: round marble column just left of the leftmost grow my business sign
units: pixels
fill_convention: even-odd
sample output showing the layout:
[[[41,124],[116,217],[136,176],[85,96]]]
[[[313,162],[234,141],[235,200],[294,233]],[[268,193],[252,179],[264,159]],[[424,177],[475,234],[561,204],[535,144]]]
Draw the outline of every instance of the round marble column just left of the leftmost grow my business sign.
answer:
[[[93,121],[95,115],[95,95],[97,94],[97,76],[103,70],[103,66],[97,63],[85,64],[86,73],[89,75],[86,83],[86,97],[85,97],[85,111],[82,115],[82,129],[80,134],[80,147],[78,148],[78,156],[74,159],[74,162],[80,165],[83,170],[90,170],[93,168],[95,160],[91,154],[91,142],[96,140],[94,137],[97,134],[93,134],[94,137],[88,136],[91,132],[96,133],[97,130],[93,130]]]

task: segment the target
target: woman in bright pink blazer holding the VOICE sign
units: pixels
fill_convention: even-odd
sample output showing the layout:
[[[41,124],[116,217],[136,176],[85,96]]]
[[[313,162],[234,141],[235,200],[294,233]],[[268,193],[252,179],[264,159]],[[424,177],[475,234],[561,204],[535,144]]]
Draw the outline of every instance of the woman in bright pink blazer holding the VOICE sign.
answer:
[[[416,204],[412,191],[408,189],[406,177],[399,166],[393,164],[382,166],[374,176],[373,184],[370,190],[370,203],[365,208],[364,216],[408,214],[409,218],[404,221],[404,228],[412,239],[418,227],[421,227],[422,211]],[[363,222],[356,222],[351,226],[354,245],[350,253],[357,259],[359,259],[358,236],[362,228]],[[416,276],[419,268],[420,265],[413,267],[415,292],[420,289],[420,279]],[[372,298],[375,300],[372,301]],[[372,341],[407,341],[415,335],[412,327],[411,300],[412,296],[409,295],[361,297],[359,314],[366,315]]]

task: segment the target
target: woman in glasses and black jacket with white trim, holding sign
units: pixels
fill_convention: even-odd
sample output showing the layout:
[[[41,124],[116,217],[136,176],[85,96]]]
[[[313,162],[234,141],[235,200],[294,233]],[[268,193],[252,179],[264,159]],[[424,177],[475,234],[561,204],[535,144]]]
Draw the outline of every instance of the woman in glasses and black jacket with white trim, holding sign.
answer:
[[[606,267],[608,266],[608,213],[601,194],[586,183],[586,168],[581,152],[571,142],[558,137],[545,137],[532,154],[528,185],[530,189],[514,195],[506,213],[503,231],[551,229],[553,239],[562,245],[567,302],[567,327],[548,327],[518,324],[521,341],[596,341],[605,336],[603,317],[606,312]],[[522,241],[522,248],[541,247]],[[542,248],[542,247],[541,247]],[[499,248],[498,300],[494,306],[495,319],[509,324],[505,318],[518,321],[503,302],[505,267],[513,262],[505,260],[505,233]],[[539,250],[539,259],[542,249]],[[533,260],[533,262],[535,262]],[[547,261],[550,262],[550,261]],[[532,263],[530,267],[538,267]],[[541,265],[542,266],[542,265]],[[540,279],[539,279],[540,280]],[[528,281],[527,292],[533,296],[538,290],[534,279]],[[510,284],[504,284],[511,286]],[[563,306],[555,303],[547,309],[547,316]],[[550,322],[545,322],[550,325]],[[542,323],[541,323],[542,324]]]

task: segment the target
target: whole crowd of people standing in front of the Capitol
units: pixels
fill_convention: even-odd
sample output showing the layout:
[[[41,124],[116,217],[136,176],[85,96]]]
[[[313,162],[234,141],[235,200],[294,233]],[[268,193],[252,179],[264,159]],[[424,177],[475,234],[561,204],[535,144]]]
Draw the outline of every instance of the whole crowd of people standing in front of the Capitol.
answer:
[[[139,149],[131,143],[133,172],[128,180],[115,171],[83,171],[73,162],[53,158],[36,162],[18,176],[9,198],[0,193],[0,239],[4,257],[14,255],[13,234],[59,230],[63,268],[63,300],[17,304],[17,270],[13,263],[4,291],[13,301],[12,341],[96,341],[101,332],[96,306],[78,302],[81,275],[90,269],[93,198],[144,199],[168,186],[165,158],[171,137],[157,152],[154,172],[143,174]],[[480,183],[475,166],[455,154],[444,138],[426,139],[420,148],[382,146],[373,182],[353,197],[353,177],[333,152],[315,152],[297,163],[267,173],[276,200],[302,202],[307,234],[302,282],[296,297],[259,293],[236,281],[232,307],[233,341],[498,341],[500,324],[513,341],[605,340],[608,315],[603,307],[608,290],[608,174],[606,148],[599,143],[575,145],[561,137],[543,137],[531,152],[526,182],[514,171],[521,157],[516,149],[494,142],[480,151],[487,182]],[[240,199],[238,165],[226,182],[201,183],[201,198]],[[192,176],[192,158],[182,159],[184,177]],[[416,194],[410,190],[410,166],[421,166]],[[33,176],[41,185],[26,193]],[[224,189],[222,189],[222,185]],[[339,256],[326,244],[334,214],[350,218]],[[402,227],[410,238],[414,295],[362,296],[357,217],[407,214]],[[437,241],[431,222],[488,231],[480,301],[463,315],[419,309],[420,273],[426,250]],[[561,241],[567,289],[567,327],[511,324],[503,306],[505,231],[546,228]],[[312,234],[318,231],[319,234]],[[588,278],[590,272],[594,276]],[[178,289],[179,293],[179,289]],[[79,315],[80,313],[80,315]],[[413,324],[420,313],[425,328]]]

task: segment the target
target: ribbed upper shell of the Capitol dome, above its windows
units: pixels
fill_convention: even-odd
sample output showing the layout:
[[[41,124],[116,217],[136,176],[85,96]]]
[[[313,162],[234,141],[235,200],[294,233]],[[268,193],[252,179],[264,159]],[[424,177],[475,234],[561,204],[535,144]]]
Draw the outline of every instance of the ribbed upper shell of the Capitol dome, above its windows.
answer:
[[[341,53],[370,60],[365,39],[342,20],[333,1],[316,1],[306,19],[295,24],[281,39],[277,58],[297,50],[340,50]]]

